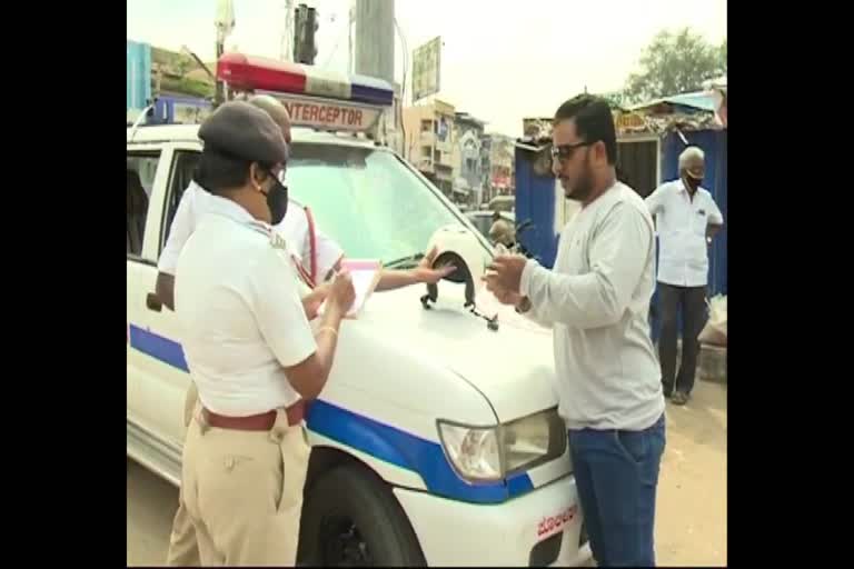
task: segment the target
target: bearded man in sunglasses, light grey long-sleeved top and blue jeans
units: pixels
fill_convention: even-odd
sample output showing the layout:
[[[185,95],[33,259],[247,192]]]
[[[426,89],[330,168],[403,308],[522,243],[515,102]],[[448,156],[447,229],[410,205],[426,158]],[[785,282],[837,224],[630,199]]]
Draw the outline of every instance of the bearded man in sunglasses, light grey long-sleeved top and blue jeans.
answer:
[[[665,446],[661,372],[647,315],[653,220],[617,181],[608,103],[582,94],[555,114],[553,171],[582,209],[560,232],[554,270],[499,256],[485,277],[505,305],[554,329],[559,412],[599,567],[655,565],[655,495]]]

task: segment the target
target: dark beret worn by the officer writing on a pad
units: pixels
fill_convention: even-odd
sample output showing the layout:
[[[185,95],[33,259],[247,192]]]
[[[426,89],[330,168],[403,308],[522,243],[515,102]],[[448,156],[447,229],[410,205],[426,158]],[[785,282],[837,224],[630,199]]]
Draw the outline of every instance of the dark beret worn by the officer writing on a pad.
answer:
[[[281,129],[269,114],[245,101],[221,104],[199,128],[205,144],[251,162],[279,163],[288,158]]]

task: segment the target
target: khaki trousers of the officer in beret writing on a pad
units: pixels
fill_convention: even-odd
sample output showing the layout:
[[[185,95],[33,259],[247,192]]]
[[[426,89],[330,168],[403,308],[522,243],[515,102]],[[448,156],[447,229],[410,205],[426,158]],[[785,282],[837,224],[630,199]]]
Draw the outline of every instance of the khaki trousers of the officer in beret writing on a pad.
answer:
[[[302,427],[284,410],[269,431],[217,429],[195,413],[169,565],[294,566],[308,457]]]

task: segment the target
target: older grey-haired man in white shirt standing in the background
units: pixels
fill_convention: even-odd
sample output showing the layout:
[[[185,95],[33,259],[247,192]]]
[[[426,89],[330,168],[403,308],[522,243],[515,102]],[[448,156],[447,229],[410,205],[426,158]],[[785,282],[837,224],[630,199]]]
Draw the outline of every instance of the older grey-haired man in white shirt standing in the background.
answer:
[[[706,279],[712,237],[724,217],[712,194],[701,187],[703,150],[688,147],[679,156],[679,179],[662,184],[646,198],[658,230],[658,292],[664,396],[685,405],[694,389],[699,343],[706,315]],[[682,310],[682,365],[676,373],[676,315]]]

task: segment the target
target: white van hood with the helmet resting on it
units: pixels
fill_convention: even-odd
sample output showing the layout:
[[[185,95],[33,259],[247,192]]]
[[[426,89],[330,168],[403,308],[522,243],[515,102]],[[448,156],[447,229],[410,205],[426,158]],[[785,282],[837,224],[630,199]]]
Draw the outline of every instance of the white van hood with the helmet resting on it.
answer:
[[[477,310],[498,315],[498,330],[464,309],[465,287],[439,282],[438,301],[421,306],[426,286],[375,292],[359,321],[401,350],[426,352],[480,391],[502,422],[557,406],[552,331],[499,305],[483,284]]]

